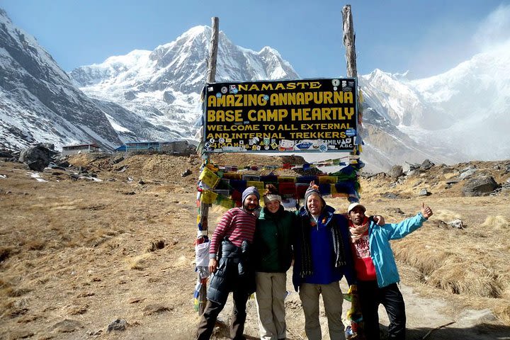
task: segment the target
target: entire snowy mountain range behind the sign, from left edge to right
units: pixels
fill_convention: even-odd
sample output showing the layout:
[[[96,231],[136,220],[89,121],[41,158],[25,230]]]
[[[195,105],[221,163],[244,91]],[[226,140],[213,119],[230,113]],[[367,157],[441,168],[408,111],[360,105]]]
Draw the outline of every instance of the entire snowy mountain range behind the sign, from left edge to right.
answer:
[[[0,11],[0,147],[33,142],[193,138],[212,30],[196,26],[152,51],[134,50],[66,74]],[[360,76],[372,171],[393,164],[510,158],[510,47],[475,55],[428,79],[375,69]],[[220,32],[217,81],[300,79],[278,51],[236,46]],[[335,155],[327,154],[327,157]],[[312,158],[312,157],[311,157]]]

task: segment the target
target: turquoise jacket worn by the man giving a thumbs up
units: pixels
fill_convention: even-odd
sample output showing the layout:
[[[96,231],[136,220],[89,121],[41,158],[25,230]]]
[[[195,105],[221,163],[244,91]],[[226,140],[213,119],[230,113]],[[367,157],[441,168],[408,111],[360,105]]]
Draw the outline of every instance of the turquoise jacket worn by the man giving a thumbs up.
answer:
[[[400,281],[397,263],[395,263],[395,257],[390,246],[390,239],[402,239],[402,237],[421,227],[425,221],[426,218],[421,215],[421,212],[402,222],[382,226],[376,225],[370,220],[370,226],[368,227],[370,257],[375,266],[375,276],[377,276],[380,288]]]

